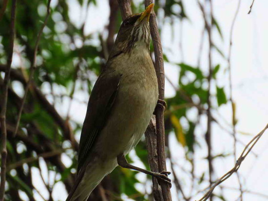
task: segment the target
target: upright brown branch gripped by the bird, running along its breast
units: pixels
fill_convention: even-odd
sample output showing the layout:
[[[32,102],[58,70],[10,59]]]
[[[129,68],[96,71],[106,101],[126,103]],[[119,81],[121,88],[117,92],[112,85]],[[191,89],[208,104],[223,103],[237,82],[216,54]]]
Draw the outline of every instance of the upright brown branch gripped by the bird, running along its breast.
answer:
[[[149,6],[152,0],[145,0],[145,6]],[[154,57],[155,57],[155,72],[158,81],[158,98],[164,100],[165,95],[165,73],[164,73],[164,60],[161,46],[161,38],[159,35],[156,15],[153,12],[150,17],[150,31],[153,40]],[[165,127],[164,127],[164,110],[165,107],[156,107],[156,139],[157,139],[157,158],[159,172],[166,171],[166,157],[165,157]],[[164,201],[171,201],[170,186],[168,183],[159,181],[162,189]]]

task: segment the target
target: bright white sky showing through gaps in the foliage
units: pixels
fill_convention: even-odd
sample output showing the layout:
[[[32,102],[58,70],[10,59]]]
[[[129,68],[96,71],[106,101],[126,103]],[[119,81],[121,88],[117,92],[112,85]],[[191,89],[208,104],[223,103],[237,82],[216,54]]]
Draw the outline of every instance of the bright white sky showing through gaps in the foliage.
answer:
[[[134,2],[140,2],[136,0]],[[85,20],[86,10],[79,7],[77,0],[67,0],[70,6],[70,17],[77,26],[81,25]],[[223,39],[219,37],[216,29],[212,32],[212,38],[215,44],[223,51],[225,56],[228,55],[230,45],[230,27],[234,14],[239,3],[239,0],[213,0],[213,14],[221,27]],[[249,6],[251,0],[241,0],[239,13],[235,21],[233,36],[232,36],[232,49],[231,49],[231,81],[232,81],[232,96],[236,104],[236,118],[237,123],[237,139],[247,144],[253,135],[260,132],[268,123],[268,1],[267,0],[255,0],[252,12],[248,15]],[[52,0],[51,6],[57,4],[57,1]],[[202,13],[198,7],[196,0],[183,0],[183,4],[186,9],[186,14],[189,20],[174,20],[173,27],[171,27],[169,21],[158,21],[159,26],[162,27],[161,39],[163,45],[163,51],[173,63],[184,62],[186,64],[196,66],[199,53],[199,45],[202,40],[201,33],[204,27],[204,20]],[[174,11],[178,11],[179,7],[174,7]],[[104,27],[108,24],[108,18],[110,15],[108,0],[97,0],[97,5],[91,5],[89,7],[88,16],[86,18],[85,34],[94,33],[96,31],[102,32]],[[98,20],[96,20],[98,19]],[[173,32],[172,32],[173,29]],[[182,34],[182,36],[181,36]],[[205,34],[205,40],[207,36]],[[179,44],[182,44],[182,50],[179,49]],[[77,41],[78,43],[78,41]],[[172,51],[173,50],[173,51]],[[183,57],[181,54],[183,52]],[[228,63],[222,58],[216,51],[212,51],[212,64],[213,66],[220,64],[219,78],[217,79],[217,85],[225,87],[228,94],[229,91],[229,79],[227,67]],[[208,43],[204,43],[203,52],[201,55],[201,69],[205,72],[208,68]],[[176,85],[178,80],[179,68],[172,64],[165,65],[165,73],[168,78],[172,80],[172,83]],[[215,83],[214,83],[215,84]],[[44,88],[46,88],[44,86]],[[215,90],[212,89],[212,93]],[[165,96],[172,97],[175,91],[172,86],[166,82]],[[82,101],[87,101],[88,96],[84,93],[76,92],[75,97]],[[228,95],[229,97],[229,95]],[[215,105],[215,101],[212,101]],[[66,100],[62,105],[57,105],[57,110],[66,115],[66,106],[69,102]],[[79,110],[78,110],[79,109]],[[82,111],[81,112],[77,112]],[[77,121],[82,123],[86,112],[86,105],[81,106],[80,103],[74,102],[71,107],[71,116]],[[195,118],[196,110],[192,109],[189,112],[190,118]],[[227,104],[222,106],[220,110],[214,112],[219,118],[225,119],[228,123],[231,123],[231,105]],[[230,127],[223,122],[223,126],[227,129]],[[183,124],[183,122],[182,122]],[[202,148],[197,147],[195,154],[198,159],[196,164],[196,175],[202,175],[207,170],[208,164],[204,159],[207,156],[207,150],[204,140],[204,133],[206,130],[206,118],[201,118],[201,125],[197,128],[197,136],[199,136],[199,143]],[[243,134],[242,134],[243,133]],[[246,133],[246,134],[245,134]],[[242,163],[239,174],[242,181],[245,182],[244,189],[251,192],[257,192],[268,196],[267,178],[268,178],[268,132],[266,132],[261,140],[256,144],[253,151],[258,155],[256,158],[253,154],[249,154],[246,160]],[[203,139],[203,140],[202,140]],[[172,145],[172,156],[174,160],[181,166],[189,169],[189,164],[184,159],[184,149],[177,144],[174,136],[171,136],[170,143]],[[219,128],[216,124],[212,125],[212,147],[215,147],[213,154],[218,153],[232,153],[233,141],[230,134]],[[242,145],[237,145],[237,154],[240,154],[243,150]],[[134,152],[131,152],[131,156],[135,158]],[[68,166],[71,161],[67,156],[62,156],[64,163]],[[138,160],[135,165],[142,165]],[[233,157],[219,158],[214,160],[215,165],[215,179],[222,176],[234,165]],[[169,163],[168,163],[169,169]],[[35,171],[35,170],[33,170]],[[183,183],[184,190],[188,192],[190,183],[185,180],[187,178],[180,168],[176,168],[177,176]],[[36,171],[37,179],[34,181],[40,187],[44,189],[44,186],[40,186],[40,177]],[[46,174],[44,170],[42,172]],[[53,173],[51,173],[53,174]],[[45,176],[45,175],[44,175]],[[51,175],[53,177],[53,175]],[[45,176],[46,178],[46,176]],[[171,176],[172,178],[172,176]],[[145,176],[138,174],[138,179],[145,181]],[[61,183],[57,183],[53,196],[55,199],[64,200],[67,193],[62,187]],[[208,183],[200,186],[200,189],[206,188]],[[227,189],[224,190],[224,194],[228,201],[235,201],[239,193],[233,188],[238,188],[238,183],[235,175],[232,175],[227,181],[223,183]],[[142,186],[137,186],[141,191]],[[60,195],[58,192],[62,192]],[[215,192],[219,192],[219,189],[215,189]],[[194,199],[200,199],[204,192],[197,194]],[[46,196],[46,193],[44,193]],[[176,193],[172,190],[173,200],[177,200]],[[37,200],[41,200],[36,195]],[[193,200],[194,200],[193,199]],[[245,193],[243,201],[266,201],[268,197],[263,197],[254,193]],[[127,201],[127,200],[126,200]]]

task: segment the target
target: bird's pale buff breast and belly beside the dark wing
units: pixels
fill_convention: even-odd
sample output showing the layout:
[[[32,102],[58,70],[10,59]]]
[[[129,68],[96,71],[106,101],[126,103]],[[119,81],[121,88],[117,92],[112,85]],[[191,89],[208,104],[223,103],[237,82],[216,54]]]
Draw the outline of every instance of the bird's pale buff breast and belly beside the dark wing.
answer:
[[[95,146],[103,160],[116,159],[136,146],[153,115],[158,99],[157,78],[150,55],[147,53],[143,60],[141,54],[124,59],[129,63],[115,64],[117,71],[126,67],[128,71],[122,72],[113,109]]]

